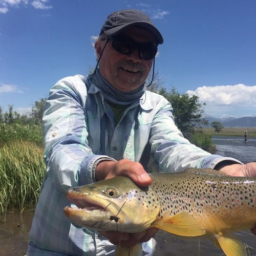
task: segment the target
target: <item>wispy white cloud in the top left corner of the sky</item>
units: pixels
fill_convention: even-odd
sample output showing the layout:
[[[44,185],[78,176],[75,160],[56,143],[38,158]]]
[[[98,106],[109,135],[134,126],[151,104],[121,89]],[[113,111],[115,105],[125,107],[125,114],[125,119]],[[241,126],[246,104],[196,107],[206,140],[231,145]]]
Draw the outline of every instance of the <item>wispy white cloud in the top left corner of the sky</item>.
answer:
[[[35,9],[47,10],[53,8],[51,5],[47,5],[49,0],[0,0],[0,13],[7,13],[10,8],[19,8],[22,5],[31,5]]]

